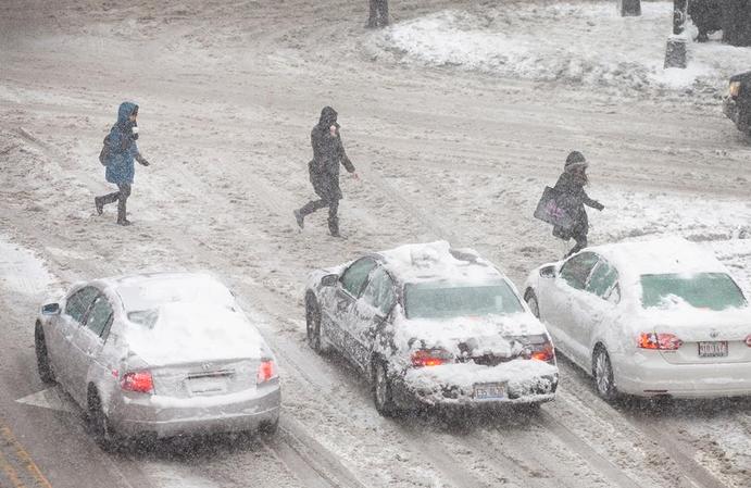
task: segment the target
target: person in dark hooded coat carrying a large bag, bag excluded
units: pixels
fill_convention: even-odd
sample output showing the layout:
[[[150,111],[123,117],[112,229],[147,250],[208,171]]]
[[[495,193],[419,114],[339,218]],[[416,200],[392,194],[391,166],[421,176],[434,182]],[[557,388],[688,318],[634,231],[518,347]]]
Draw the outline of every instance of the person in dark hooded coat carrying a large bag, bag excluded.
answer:
[[[559,193],[558,202],[566,213],[574,220],[571,228],[559,226],[553,227],[553,236],[563,240],[572,237],[576,240],[576,246],[565,255],[565,258],[579,252],[587,247],[587,234],[589,233],[589,218],[584,205],[592,209],[602,210],[604,205],[587,196],[584,190],[589,183],[587,178],[587,160],[579,151],[572,151],[566,158],[563,166],[563,174],[558,178],[554,189]]]

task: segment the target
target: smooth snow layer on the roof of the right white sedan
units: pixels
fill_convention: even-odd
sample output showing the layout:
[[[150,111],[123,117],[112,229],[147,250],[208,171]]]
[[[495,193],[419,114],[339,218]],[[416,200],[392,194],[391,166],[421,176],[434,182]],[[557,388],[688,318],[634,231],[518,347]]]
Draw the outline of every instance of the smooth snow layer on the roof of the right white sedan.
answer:
[[[714,254],[680,237],[618,242],[589,248],[633,279],[649,274],[727,273]]]

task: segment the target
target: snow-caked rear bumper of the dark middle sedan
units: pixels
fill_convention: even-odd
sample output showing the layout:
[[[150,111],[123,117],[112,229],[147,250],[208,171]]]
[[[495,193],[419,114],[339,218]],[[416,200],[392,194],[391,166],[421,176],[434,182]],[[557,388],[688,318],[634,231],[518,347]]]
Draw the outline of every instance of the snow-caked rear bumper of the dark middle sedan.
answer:
[[[450,364],[411,368],[401,380],[393,381],[392,390],[397,403],[410,406],[525,404],[553,400],[558,380],[556,366],[517,360],[491,367]],[[504,395],[479,398],[477,388],[488,384],[502,385]]]

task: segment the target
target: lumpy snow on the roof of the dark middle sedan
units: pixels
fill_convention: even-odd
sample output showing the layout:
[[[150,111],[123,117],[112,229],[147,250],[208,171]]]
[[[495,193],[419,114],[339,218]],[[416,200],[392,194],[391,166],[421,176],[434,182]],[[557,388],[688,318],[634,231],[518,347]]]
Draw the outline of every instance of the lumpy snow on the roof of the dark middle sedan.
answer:
[[[474,250],[452,249],[445,240],[404,245],[378,255],[386,268],[403,283],[483,283],[503,278],[501,272]]]

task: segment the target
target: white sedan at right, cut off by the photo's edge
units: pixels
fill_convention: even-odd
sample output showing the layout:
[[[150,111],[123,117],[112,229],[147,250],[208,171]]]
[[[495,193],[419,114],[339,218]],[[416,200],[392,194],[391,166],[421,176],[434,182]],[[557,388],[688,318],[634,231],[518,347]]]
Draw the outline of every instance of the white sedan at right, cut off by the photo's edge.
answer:
[[[751,395],[751,309],[698,245],[587,248],[531,272],[524,298],[606,400]]]

